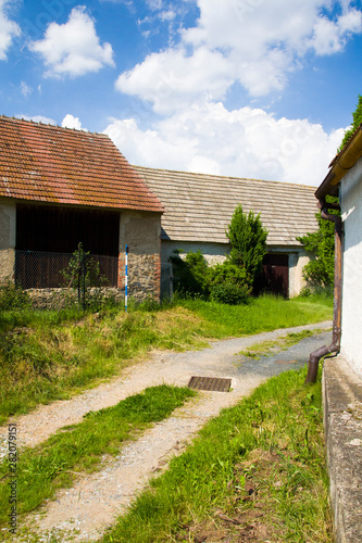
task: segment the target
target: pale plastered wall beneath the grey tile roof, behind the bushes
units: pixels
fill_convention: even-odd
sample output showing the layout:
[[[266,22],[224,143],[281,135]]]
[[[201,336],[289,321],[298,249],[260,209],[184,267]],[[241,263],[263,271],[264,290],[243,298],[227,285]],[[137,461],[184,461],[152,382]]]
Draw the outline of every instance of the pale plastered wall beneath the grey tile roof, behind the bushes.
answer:
[[[166,241],[162,240],[161,255],[162,263],[166,263],[173,251],[182,249],[185,253],[201,250],[209,266],[221,264],[230,251],[226,243],[200,243],[197,241]],[[287,253],[289,255],[289,298],[296,296],[305,287],[303,279],[303,267],[310,261],[310,254],[302,247],[272,247],[269,248],[274,253]]]

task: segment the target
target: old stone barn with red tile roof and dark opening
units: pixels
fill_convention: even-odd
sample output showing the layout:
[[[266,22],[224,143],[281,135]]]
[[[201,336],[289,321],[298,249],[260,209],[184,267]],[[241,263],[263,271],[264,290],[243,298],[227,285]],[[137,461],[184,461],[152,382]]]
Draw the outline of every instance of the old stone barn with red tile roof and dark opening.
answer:
[[[128,244],[130,293],[159,296],[162,212],[108,136],[0,117],[0,279],[59,287],[82,242],[122,288]]]

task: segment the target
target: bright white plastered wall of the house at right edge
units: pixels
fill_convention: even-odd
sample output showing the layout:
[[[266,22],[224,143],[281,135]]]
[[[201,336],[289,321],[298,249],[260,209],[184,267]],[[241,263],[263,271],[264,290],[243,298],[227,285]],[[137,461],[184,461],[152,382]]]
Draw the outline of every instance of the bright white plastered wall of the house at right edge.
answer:
[[[341,353],[362,377],[362,159],[341,180],[345,228]]]

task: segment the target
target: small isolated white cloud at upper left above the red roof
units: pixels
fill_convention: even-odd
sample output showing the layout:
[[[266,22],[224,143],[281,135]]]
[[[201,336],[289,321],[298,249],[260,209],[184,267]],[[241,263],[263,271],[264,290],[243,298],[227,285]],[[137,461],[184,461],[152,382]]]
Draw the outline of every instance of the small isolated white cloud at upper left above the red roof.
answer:
[[[104,65],[114,66],[112,47],[108,42],[100,43],[95,21],[85,7],[74,8],[63,25],[51,23],[45,38],[28,47],[43,58],[47,76],[76,77],[98,72]]]

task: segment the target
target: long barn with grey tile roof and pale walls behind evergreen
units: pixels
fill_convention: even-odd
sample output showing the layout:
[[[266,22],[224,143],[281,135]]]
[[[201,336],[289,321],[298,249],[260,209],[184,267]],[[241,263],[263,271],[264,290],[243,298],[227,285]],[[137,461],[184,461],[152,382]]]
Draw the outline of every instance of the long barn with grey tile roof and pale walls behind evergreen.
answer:
[[[210,264],[229,251],[225,229],[237,204],[261,214],[269,230],[264,287],[296,295],[303,287],[302,268],[311,255],[296,240],[316,229],[315,187],[135,166],[165,206],[162,216],[162,263],[175,249],[200,249]]]

